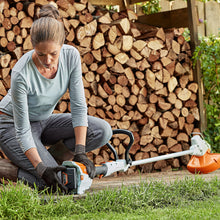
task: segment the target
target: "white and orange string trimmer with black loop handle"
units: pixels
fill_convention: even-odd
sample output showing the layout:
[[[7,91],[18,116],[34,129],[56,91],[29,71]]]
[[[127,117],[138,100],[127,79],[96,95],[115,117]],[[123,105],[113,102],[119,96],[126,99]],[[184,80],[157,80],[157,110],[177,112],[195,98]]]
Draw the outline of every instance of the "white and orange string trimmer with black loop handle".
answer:
[[[113,152],[115,160],[96,166],[96,175],[106,177],[117,171],[125,172],[131,166],[152,163],[184,155],[192,155],[187,165],[187,169],[193,174],[210,173],[220,168],[220,154],[210,153],[210,145],[203,139],[201,134],[196,134],[191,138],[191,147],[189,150],[137,161],[132,161],[129,157],[129,150],[134,142],[132,132],[123,129],[116,129],[113,130],[113,134],[126,134],[130,138],[130,142],[125,150],[125,159],[119,159],[114,147],[108,143],[107,146]],[[89,178],[86,172],[86,167],[83,164],[74,161],[64,161],[62,165],[67,168],[67,170],[62,173],[62,181],[64,185],[68,187],[69,193],[83,194],[90,188],[92,185],[92,179]]]

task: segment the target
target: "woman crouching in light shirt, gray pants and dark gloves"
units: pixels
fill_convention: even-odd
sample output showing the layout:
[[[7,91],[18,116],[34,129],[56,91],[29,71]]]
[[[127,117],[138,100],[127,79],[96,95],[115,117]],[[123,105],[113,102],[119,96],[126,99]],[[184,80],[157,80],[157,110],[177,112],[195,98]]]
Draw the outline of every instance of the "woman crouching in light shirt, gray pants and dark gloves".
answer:
[[[112,131],[104,120],[87,116],[80,55],[64,44],[58,10],[44,6],[30,34],[34,49],[14,66],[11,89],[0,103],[0,146],[19,167],[18,179],[39,188],[58,185],[66,190],[58,173],[64,167],[58,166],[45,146],[62,140],[74,152],[74,161],[84,164],[94,178],[95,167],[86,152],[105,145]],[[71,113],[52,114],[67,89]],[[2,176],[8,178],[7,172]]]

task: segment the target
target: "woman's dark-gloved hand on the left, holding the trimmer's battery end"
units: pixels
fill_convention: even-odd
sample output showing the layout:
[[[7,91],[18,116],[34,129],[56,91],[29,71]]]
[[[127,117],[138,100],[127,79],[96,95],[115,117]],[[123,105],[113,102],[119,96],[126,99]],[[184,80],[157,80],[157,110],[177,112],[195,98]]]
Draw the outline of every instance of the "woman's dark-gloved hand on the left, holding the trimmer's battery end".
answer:
[[[53,191],[56,191],[58,186],[61,190],[67,193],[68,188],[63,185],[63,183],[57,176],[58,172],[62,172],[65,170],[66,167],[64,166],[47,167],[43,164],[43,162],[40,162],[36,167],[36,171],[39,176],[46,182],[49,187],[52,188]]]

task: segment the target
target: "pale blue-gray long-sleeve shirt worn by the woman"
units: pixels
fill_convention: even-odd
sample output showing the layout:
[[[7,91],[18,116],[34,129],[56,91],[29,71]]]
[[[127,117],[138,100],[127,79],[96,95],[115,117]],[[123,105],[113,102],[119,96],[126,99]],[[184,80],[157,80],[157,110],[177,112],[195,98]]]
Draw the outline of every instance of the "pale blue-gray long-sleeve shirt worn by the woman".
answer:
[[[0,111],[14,118],[16,136],[24,152],[36,147],[30,121],[47,119],[67,88],[73,127],[88,126],[81,60],[77,49],[62,46],[57,74],[53,79],[40,74],[32,60],[33,52],[27,52],[14,66],[11,89],[0,102]]]

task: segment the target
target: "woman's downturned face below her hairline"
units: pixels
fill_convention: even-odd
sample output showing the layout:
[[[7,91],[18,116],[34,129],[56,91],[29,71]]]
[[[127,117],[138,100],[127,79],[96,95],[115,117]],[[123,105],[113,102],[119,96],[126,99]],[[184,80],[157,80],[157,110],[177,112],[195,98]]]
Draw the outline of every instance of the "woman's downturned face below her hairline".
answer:
[[[34,50],[40,64],[47,69],[52,69],[57,67],[61,47],[55,41],[45,41],[38,43]]]

